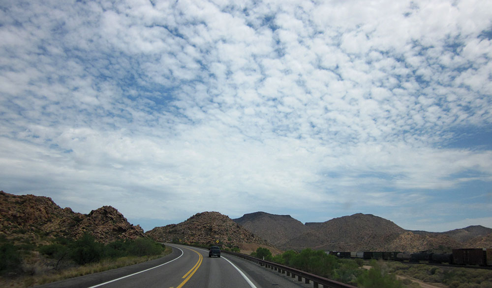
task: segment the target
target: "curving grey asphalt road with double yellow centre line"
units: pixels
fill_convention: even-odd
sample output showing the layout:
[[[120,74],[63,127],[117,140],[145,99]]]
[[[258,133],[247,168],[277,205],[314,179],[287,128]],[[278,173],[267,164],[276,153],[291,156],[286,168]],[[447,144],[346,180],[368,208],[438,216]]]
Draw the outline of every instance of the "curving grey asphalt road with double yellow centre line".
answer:
[[[224,254],[209,258],[208,250],[166,244],[173,252],[163,258],[110,271],[67,279],[43,288],[299,288],[312,287],[257,264]]]

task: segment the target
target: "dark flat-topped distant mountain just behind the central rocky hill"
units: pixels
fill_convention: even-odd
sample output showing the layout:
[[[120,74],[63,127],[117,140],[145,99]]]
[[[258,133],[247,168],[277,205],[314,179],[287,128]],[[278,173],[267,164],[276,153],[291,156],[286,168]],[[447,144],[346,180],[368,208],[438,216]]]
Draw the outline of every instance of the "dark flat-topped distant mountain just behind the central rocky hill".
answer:
[[[291,238],[309,230],[302,222],[292,218],[290,215],[254,212],[244,214],[243,217],[233,220],[278,247],[281,247],[283,243]]]

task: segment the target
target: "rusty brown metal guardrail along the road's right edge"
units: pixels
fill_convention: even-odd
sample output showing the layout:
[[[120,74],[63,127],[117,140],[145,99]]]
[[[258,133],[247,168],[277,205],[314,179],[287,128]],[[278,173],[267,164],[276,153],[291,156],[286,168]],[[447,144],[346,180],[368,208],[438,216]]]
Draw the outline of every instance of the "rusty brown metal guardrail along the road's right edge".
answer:
[[[270,268],[272,270],[278,271],[279,273],[286,274],[286,276],[291,276],[292,278],[296,278],[298,281],[302,281],[304,278],[304,282],[306,284],[309,284],[311,281],[314,284],[314,288],[318,288],[319,285],[323,285],[323,288],[357,288],[352,285],[348,285],[345,283],[341,283],[335,280],[331,280],[328,278],[320,277],[318,275],[314,275],[311,273],[307,273],[295,268],[291,268],[288,266],[284,266],[275,262],[270,262],[266,260],[261,260],[246,254],[241,254],[241,253],[236,253],[236,252],[230,252],[230,251],[224,251],[221,250],[222,253],[227,253],[230,255],[234,255],[246,260],[249,260],[251,262],[255,262],[257,264],[260,264],[260,266],[265,266],[265,268]]]

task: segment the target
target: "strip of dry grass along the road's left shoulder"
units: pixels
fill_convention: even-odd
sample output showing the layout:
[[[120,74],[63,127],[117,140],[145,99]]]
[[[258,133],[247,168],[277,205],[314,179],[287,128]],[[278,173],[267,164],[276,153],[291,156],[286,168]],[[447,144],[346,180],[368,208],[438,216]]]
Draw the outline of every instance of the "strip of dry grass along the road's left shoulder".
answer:
[[[92,273],[102,272],[106,270],[116,269],[124,266],[129,266],[133,264],[138,264],[142,262],[151,261],[172,252],[172,248],[166,246],[166,249],[161,255],[154,256],[143,256],[143,257],[122,257],[118,259],[103,260],[97,263],[91,263],[83,266],[67,268],[64,270],[46,270],[42,267],[31,267],[31,269],[36,271],[42,271],[35,273],[33,276],[21,276],[18,278],[0,278],[0,287],[10,287],[10,288],[24,288],[31,287],[35,285],[43,285],[51,282],[56,282],[68,278],[84,276]],[[40,265],[40,264],[38,264]]]

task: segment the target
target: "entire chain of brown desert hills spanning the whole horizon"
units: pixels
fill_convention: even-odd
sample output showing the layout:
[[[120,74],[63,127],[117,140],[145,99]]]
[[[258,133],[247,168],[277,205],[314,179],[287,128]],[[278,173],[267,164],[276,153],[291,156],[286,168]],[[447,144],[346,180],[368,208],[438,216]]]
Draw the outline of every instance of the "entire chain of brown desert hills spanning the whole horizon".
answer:
[[[338,251],[449,251],[492,248],[492,229],[469,226],[434,233],[405,230],[390,220],[356,213],[325,222],[303,224],[290,215],[266,212],[231,219],[219,212],[197,213],[187,220],[144,233],[117,209],[103,206],[89,214],[60,208],[51,198],[0,191],[0,237],[39,244],[54,237],[91,234],[100,242],[151,237],[157,241],[218,244],[242,252],[268,247],[275,251],[312,248]],[[277,250],[279,248],[280,250]]]

